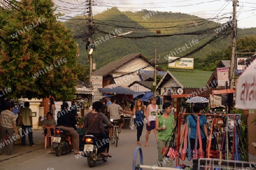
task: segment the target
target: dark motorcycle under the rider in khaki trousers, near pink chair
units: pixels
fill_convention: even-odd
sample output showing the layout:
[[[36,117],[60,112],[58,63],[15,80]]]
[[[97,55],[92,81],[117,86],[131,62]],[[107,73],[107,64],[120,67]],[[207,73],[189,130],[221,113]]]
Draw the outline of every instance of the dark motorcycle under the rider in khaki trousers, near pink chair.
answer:
[[[55,135],[53,136],[52,140],[52,145],[53,148],[55,148],[56,156],[61,156],[71,152],[73,150],[73,144],[69,131],[56,128]]]

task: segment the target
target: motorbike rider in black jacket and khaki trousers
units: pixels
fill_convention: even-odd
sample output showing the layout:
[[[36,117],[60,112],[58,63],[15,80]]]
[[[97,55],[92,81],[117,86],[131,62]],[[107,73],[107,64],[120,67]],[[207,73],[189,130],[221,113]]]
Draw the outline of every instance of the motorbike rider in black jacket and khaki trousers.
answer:
[[[57,113],[57,126],[56,128],[61,128],[63,130],[69,131],[72,138],[73,148],[75,150],[74,154],[80,154],[79,152],[79,134],[76,131],[76,119],[71,111],[68,110],[68,103],[63,102],[61,105],[61,111]]]

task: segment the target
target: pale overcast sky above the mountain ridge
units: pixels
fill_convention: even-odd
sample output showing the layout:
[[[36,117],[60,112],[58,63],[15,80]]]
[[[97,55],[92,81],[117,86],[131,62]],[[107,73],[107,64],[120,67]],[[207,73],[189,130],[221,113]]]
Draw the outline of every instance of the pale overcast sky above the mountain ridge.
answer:
[[[63,1],[63,2],[61,2]],[[201,18],[230,17],[233,13],[233,1],[231,0],[93,0],[93,15],[102,11],[118,7],[121,11],[141,11],[142,9],[154,11],[172,11]],[[59,5],[58,10],[68,16],[81,15],[86,6],[86,0],[54,0]],[[65,2],[65,3],[64,3]],[[239,0],[237,7],[238,27],[256,27],[256,1]],[[61,9],[62,8],[62,9]],[[226,22],[222,20],[222,22]]]

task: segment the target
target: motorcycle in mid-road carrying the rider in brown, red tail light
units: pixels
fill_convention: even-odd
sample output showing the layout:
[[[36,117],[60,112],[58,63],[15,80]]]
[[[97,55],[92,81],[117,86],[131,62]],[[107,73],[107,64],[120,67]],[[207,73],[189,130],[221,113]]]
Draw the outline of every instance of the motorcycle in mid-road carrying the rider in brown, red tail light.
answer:
[[[109,142],[107,140],[105,142]],[[108,156],[100,153],[102,142],[96,139],[94,135],[85,135],[83,153],[84,157],[87,157],[88,165],[90,168],[95,167],[96,161],[106,162],[108,160]]]

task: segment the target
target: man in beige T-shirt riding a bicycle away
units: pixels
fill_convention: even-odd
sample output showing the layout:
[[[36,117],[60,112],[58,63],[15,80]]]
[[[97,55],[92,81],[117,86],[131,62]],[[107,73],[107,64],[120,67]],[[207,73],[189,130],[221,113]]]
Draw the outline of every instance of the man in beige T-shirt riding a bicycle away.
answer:
[[[118,121],[118,123],[121,123],[121,125],[119,126],[118,129],[118,133],[121,132],[121,128],[123,127],[123,125],[125,125],[125,119],[121,119],[120,115],[119,115],[119,111],[122,111],[123,113],[126,114],[130,114],[129,111],[125,111],[122,109],[122,107],[120,105],[117,105],[117,99],[115,97],[111,98],[111,104],[108,106],[108,113],[110,115],[110,119],[113,119],[114,121]],[[112,142],[112,135],[113,135],[113,130],[114,128],[111,127],[110,128],[110,141]]]

